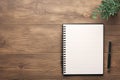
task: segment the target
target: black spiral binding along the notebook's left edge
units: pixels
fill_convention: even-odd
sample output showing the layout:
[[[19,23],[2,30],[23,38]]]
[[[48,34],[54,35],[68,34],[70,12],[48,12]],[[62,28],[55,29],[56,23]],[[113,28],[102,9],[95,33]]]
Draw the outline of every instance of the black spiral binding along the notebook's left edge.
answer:
[[[63,74],[66,73],[66,27],[63,26]]]

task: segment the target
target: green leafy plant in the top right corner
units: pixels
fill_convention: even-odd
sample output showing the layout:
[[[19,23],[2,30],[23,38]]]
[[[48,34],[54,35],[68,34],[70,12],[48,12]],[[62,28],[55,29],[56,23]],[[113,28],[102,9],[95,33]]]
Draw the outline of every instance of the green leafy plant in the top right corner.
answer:
[[[111,16],[115,16],[120,11],[120,0],[102,0],[92,14],[92,18],[96,19],[98,15],[102,19],[109,19]]]

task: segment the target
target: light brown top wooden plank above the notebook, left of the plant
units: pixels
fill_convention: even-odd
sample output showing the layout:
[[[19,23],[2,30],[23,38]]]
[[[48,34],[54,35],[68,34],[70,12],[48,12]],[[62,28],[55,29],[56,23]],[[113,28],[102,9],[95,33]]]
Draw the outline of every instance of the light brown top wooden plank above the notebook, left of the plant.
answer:
[[[3,0],[0,1],[1,24],[99,23],[91,13],[101,0]]]

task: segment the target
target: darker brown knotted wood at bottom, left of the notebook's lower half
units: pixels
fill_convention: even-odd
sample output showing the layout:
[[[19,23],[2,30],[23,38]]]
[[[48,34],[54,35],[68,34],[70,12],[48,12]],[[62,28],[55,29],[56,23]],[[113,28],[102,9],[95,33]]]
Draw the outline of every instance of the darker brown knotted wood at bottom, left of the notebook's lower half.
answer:
[[[62,73],[61,53],[0,54],[0,72],[2,80],[57,80]]]

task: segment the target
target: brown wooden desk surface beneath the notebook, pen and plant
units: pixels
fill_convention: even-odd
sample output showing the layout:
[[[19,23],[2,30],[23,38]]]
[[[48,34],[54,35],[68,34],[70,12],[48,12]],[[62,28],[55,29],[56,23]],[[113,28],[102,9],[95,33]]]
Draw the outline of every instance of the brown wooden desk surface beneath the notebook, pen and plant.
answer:
[[[1,0],[0,80],[120,80],[120,14],[91,18],[101,0]],[[104,23],[104,76],[62,76],[63,23]],[[111,72],[107,45],[113,43]]]

